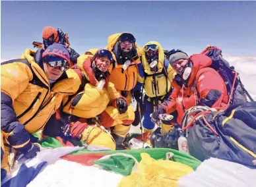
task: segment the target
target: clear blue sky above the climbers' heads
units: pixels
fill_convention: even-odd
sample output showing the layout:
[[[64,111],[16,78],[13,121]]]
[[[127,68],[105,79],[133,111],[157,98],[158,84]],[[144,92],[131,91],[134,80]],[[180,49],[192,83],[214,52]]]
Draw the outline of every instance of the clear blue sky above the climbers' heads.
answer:
[[[191,55],[210,44],[227,55],[256,55],[255,1],[1,1],[1,59],[42,41],[44,26],[68,32],[79,53],[126,31],[139,46],[155,40]]]

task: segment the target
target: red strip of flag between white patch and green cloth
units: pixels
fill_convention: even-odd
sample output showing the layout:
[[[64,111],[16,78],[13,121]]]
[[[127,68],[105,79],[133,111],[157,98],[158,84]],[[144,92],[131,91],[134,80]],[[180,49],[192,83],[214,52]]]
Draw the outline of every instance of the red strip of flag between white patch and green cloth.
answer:
[[[105,155],[108,155],[106,153],[84,153],[81,155],[65,155],[61,157],[62,159],[68,160],[68,161],[74,161],[76,163],[80,163],[82,165],[91,166],[94,165],[94,161],[97,161],[98,159],[104,157]]]

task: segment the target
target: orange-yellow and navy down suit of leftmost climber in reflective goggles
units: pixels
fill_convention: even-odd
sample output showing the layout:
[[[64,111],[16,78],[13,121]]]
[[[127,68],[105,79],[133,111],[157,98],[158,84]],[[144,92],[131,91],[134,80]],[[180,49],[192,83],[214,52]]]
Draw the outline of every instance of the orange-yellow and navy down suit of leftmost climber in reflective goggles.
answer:
[[[63,95],[75,94],[80,85],[71,75],[74,72],[67,70],[50,88],[42,64],[35,62],[35,53],[26,49],[17,61],[1,64],[1,134],[4,144],[20,151],[32,147],[29,133],[44,129]]]

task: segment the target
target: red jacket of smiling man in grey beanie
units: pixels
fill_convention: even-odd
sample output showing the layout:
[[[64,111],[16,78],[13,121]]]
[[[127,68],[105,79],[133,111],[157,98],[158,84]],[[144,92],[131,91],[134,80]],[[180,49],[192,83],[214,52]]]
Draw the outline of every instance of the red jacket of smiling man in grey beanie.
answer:
[[[166,107],[166,113],[177,110],[177,122],[179,124],[185,111],[198,105],[200,99],[207,98],[210,90],[218,90],[222,95],[220,95],[218,101],[209,107],[223,107],[228,103],[224,80],[216,70],[208,67],[212,64],[212,59],[206,55],[196,54],[192,55],[189,60],[193,63],[193,67],[187,88],[185,86],[180,88],[177,84],[172,84],[174,91],[170,95],[170,101]]]

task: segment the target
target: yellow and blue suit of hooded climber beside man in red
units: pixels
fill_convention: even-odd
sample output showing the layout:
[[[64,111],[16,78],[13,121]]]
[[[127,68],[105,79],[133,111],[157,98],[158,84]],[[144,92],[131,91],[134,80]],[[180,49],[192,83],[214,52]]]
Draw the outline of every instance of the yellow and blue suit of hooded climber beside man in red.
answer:
[[[158,64],[156,65],[158,68],[157,72],[153,72],[150,69],[148,62],[146,61],[146,53],[143,50],[146,45],[152,44],[158,46]],[[176,72],[174,72],[172,67],[170,67],[169,61],[165,59],[164,49],[160,43],[157,41],[149,41],[143,46],[143,49],[141,57],[142,63],[138,65],[138,82],[134,90],[141,92],[142,86],[144,84],[144,107],[146,109],[141,109],[141,115],[143,117],[144,130],[151,132],[154,129],[155,124],[151,121],[150,114],[154,112],[154,106],[158,105],[158,103],[155,103],[155,101],[152,101],[152,99],[155,100],[156,97],[158,97],[158,100],[161,99],[162,101],[168,99],[170,96],[170,82],[172,82],[172,78],[174,78]],[[168,73],[171,79],[168,77]],[[156,76],[154,76],[154,74],[156,74]],[[154,88],[153,82],[156,82],[156,88]],[[141,106],[141,108],[143,108],[143,106]],[[135,114],[137,118],[136,123],[138,123],[140,122],[139,111],[137,110]]]

